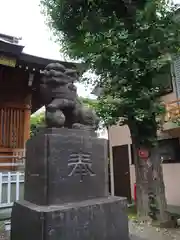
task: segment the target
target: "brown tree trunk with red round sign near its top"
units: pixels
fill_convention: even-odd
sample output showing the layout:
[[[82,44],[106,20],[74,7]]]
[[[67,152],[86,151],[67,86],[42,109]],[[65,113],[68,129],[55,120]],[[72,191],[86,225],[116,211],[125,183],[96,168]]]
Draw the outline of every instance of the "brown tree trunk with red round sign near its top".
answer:
[[[147,148],[146,148],[147,149]],[[137,213],[141,220],[169,221],[161,161],[157,147],[147,149],[150,156],[145,159],[138,155],[134,147]]]

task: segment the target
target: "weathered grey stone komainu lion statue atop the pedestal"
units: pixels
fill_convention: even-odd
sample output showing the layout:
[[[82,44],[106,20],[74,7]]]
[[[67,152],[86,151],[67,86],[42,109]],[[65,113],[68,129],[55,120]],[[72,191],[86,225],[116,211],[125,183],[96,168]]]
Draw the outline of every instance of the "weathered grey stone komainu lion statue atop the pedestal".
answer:
[[[46,126],[51,128],[85,128],[96,130],[99,119],[92,109],[84,106],[74,85],[78,75],[59,63],[51,63],[44,70],[41,95],[46,108]]]

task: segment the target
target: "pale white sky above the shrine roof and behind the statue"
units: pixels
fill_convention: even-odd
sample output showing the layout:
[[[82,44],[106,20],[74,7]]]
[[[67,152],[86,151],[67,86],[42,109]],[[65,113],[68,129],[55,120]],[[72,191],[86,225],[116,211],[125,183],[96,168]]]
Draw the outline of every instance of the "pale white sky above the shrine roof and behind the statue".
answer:
[[[0,0],[0,33],[22,37],[24,52],[44,58],[66,60],[55,43],[39,7],[40,0]],[[92,87],[76,84],[78,95],[93,97]]]

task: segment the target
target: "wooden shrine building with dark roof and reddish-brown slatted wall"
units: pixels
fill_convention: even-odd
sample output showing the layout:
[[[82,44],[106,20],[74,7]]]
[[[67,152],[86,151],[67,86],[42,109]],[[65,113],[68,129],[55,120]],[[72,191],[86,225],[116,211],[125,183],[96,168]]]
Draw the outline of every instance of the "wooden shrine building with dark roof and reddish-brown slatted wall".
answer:
[[[23,49],[20,39],[0,34],[0,163],[12,163],[24,154],[30,116],[43,106],[40,79],[45,66],[59,62],[80,71],[80,64],[32,56]],[[12,170],[1,165],[0,170]]]

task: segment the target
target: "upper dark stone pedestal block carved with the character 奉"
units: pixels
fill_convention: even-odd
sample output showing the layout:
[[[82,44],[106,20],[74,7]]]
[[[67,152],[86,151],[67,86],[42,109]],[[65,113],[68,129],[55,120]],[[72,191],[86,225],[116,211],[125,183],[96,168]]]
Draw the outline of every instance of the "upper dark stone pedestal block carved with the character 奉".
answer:
[[[106,140],[47,129],[27,143],[24,199],[51,205],[108,196]]]

